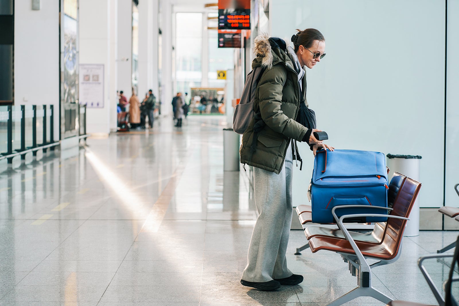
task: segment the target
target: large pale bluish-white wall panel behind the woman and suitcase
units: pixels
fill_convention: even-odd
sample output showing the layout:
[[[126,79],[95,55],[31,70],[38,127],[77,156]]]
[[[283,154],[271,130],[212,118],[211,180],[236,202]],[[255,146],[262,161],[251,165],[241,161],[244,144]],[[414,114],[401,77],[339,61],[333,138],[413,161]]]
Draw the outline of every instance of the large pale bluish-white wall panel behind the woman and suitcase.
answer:
[[[444,1],[269,3],[272,36],[290,38],[296,28],[317,28],[325,36],[327,55],[307,78],[309,106],[328,143],[421,155],[420,206],[442,206]],[[311,151],[300,150],[296,204],[307,201],[303,191],[313,168]]]

